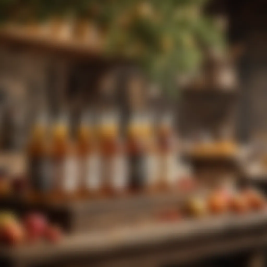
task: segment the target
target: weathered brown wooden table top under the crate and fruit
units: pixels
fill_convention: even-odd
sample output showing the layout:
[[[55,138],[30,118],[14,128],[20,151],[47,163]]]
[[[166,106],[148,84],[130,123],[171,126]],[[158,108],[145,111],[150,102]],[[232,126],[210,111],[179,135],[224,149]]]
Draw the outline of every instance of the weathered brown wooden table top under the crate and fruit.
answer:
[[[257,230],[262,229],[263,226],[265,231],[258,233]],[[195,244],[196,249],[199,250],[194,256],[201,256],[203,253],[212,255],[222,251],[233,252],[244,246],[267,244],[267,234],[262,234],[266,232],[266,229],[266,211],[242,216],[187,219],[175,223],[144,224],[132,228],[69,235],[58,244],[40,243],[16,248],[2,247],[0,259],[8,258],[15,259],[17,262],[32,263],[77,257],[77,255],[86,255],[90,258],[106,253],[116,254],[122,251],[127,253],[135,249],[148,249],[155,245],[163,246],[173,242],[187,244],[190,240],[190,249],[193,249]],[[248,235],[251,230],[254,231],[253,234]],[[233,239],[236,234],[238,238]],[[218,237],[222,236],[227,238],[220,243]],[[213,240],[212,243],[207,242],[209,238]],[[227,240],[230,243],[225,243]],[[183,249],[185,248],[186,246],[183,246]],[[186,255],[184,253],[183,255]]]

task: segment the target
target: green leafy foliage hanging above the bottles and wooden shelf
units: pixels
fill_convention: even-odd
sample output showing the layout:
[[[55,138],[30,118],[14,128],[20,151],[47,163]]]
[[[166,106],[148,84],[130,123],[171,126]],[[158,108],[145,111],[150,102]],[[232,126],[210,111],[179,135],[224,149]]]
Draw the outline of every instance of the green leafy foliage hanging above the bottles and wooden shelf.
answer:
[[[206,0],[0,0],[0,19],[88,18],[106,33],[107,54],[129,57],[164,88],[194,72],[203,48],[225,40],[202,12]]]

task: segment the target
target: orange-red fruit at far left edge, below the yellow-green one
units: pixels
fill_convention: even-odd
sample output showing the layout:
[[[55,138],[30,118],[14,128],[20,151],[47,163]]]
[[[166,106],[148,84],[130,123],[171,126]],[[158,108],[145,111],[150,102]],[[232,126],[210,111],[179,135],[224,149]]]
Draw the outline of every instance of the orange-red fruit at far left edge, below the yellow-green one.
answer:
[[[18,245],[24,239],[24,229],[18,223],[6,223],[1,227],[0,240],[7,245]]]

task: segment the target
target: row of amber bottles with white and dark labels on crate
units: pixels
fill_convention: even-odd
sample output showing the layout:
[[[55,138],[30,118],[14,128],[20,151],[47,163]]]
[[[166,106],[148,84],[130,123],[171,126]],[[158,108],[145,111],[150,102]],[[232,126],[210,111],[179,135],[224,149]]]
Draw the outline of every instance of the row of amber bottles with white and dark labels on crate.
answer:
[[[42,193],[96,194],[172,186],[177,148],[169,117],[156,127],[143,116],[120,130],[116,116],[81,120],[75,138],[66,119],[34,125],[28,147],[32,188]]]

